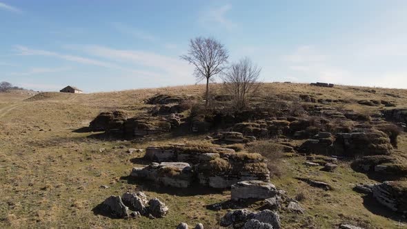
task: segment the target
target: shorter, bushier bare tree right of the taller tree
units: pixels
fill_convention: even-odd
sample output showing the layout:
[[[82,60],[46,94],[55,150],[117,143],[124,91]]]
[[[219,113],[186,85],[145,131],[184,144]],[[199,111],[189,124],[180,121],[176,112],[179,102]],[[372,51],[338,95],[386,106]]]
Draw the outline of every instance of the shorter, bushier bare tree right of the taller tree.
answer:
[[[232,94],[236,109],[246,108],[252,96],[261,83],[259,75],[261,68],[255,66],[248,57],[237,63],[232,63],[223,76],[226,91]]]

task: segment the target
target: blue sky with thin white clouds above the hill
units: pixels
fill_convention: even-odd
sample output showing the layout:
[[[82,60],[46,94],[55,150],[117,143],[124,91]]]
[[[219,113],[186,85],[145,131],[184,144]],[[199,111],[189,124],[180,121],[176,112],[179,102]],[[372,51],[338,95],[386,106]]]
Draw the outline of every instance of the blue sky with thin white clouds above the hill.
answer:
[[[0,0],[0,81],[85,92],[196,83],[179,55],[215,37],[264,81],[407,88],[407,1]]]

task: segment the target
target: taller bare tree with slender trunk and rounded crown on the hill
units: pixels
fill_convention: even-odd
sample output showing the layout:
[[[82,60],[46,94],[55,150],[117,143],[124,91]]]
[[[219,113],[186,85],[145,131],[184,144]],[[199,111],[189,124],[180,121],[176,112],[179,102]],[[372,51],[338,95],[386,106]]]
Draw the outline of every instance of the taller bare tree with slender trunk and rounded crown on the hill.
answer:
[[[199,81],[206,79],[206,107],[209,100],[209,80],[226,68],[228,57],[228,50],[224,45],[213,38],[203,37],[190,39],[188,54],[181,56],[181,59],[195,66],[194,74]]]

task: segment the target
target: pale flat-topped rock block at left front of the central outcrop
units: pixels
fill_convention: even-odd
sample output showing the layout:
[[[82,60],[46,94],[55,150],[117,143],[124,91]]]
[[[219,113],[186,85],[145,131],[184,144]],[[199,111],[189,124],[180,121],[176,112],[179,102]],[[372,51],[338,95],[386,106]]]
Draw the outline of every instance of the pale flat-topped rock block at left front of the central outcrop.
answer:
[[[188,163],[151,163],[144,168],[133,168],[130,177],[148,179],[163,186],[187,188],[191,185],[194,172]]]

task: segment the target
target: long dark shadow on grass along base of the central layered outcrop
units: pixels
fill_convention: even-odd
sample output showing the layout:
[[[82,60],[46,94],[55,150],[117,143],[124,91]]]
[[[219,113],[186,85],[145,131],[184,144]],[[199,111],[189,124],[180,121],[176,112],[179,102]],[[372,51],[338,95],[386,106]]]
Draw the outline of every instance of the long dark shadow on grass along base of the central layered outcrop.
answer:
[[[176,195],[179,197],[192,197],[195,195],[210,195],[210,194],[222,194],[224,190],[217,188],[208,188],[200,186],[199,183],[192,183],[192,186],[188,188],[174,188],[163,186],[154,181],[135,179],[130,176],[120,177],[121,180],[127,181],[129,184],[135,184],[142,191],[157,192],[161,194]]]

